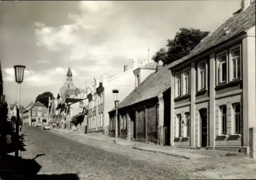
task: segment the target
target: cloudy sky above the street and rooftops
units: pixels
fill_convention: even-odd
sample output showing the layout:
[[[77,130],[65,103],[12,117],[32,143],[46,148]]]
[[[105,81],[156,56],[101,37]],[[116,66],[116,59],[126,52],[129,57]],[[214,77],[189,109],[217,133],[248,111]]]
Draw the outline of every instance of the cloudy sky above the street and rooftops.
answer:
[[[240,8],[215,1],[1,1],[0,59],[8,104],[17,99],[13,65],[26,65],[20,104],[56,97],[71,67],[78,88],[150,58],[179,28],[213,31]]]

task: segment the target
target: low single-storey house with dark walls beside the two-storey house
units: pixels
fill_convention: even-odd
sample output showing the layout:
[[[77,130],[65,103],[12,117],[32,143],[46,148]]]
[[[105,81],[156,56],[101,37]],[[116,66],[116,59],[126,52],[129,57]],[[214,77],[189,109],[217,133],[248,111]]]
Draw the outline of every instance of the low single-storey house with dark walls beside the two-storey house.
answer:
[[[169,145],[170,72],[158,66],[118,107],[118,136]],[[110,136],[115,136],[116,110],[109,111]]]

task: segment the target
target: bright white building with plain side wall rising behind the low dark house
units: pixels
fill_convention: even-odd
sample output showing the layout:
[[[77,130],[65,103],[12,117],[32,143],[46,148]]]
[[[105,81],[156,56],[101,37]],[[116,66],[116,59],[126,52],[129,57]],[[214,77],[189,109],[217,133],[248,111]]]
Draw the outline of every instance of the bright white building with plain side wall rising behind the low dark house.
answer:
[[[109,134],[109,114],[114,107],[113,89],[119,89],[119,100],[122,101],[129,95],[139,83],[151,73],[156,71],[157,64],[151,61],[144,61],[138,64],[134,60],[132,69],[127,70],[124,66],[124,72],[107,78],[103,75],[102,82],[96,78],[91,86],[93,93],[88,95],[88,132],[103,132],[104,136]]]

